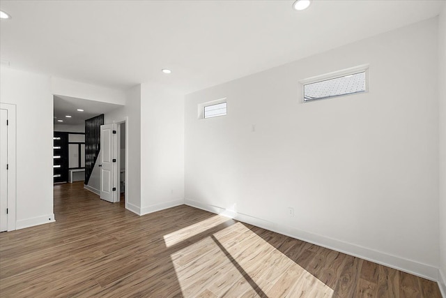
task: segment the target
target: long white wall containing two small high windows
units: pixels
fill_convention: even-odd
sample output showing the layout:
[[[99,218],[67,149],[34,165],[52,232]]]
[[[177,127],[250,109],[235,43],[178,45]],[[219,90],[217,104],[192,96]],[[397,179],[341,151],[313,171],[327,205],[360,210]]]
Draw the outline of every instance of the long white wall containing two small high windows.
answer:
[[[242,221],[436,279],[437,29],[428,20],[186,96],[185,202],[236,204]],[[368,94],[300,103],[299,80],[362,64]],[[199,103],[224,97],[227,116],[197,119]]]

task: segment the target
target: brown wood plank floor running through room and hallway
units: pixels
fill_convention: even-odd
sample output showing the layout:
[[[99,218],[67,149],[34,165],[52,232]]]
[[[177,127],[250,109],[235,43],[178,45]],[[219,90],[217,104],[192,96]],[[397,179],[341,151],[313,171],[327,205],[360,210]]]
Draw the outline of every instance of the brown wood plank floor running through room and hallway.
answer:
[[[137,216],[54,186],[56,223],[0,234],[1,297],[441,297],[424,278],[180,206]]]

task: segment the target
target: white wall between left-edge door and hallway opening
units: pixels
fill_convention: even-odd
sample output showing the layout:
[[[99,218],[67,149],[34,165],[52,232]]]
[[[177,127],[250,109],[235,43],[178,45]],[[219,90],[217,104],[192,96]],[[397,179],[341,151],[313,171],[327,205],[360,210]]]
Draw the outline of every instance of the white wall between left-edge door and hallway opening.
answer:
[[[54,221],[53,96],[48,77],[1,67],[0,101],[17,106],[17,225]]]

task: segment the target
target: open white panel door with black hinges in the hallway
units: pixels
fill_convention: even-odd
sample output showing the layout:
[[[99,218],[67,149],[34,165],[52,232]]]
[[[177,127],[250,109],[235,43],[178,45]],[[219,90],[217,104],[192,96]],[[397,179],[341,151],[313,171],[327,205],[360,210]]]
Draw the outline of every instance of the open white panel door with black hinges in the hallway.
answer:
[[[116,124],[100,126],[100,198],[117,202],[116,191]]]

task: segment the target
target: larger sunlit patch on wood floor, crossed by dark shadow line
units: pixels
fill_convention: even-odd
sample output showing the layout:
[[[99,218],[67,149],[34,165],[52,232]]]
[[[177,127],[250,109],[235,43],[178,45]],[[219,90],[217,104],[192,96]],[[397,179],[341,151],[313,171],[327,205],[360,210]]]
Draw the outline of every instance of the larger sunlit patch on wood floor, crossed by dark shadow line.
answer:
[[[213,294],[330,298],[333,295],[328,285],[243,223],[195,241],[172,253],[171,260],[184,297]]]

